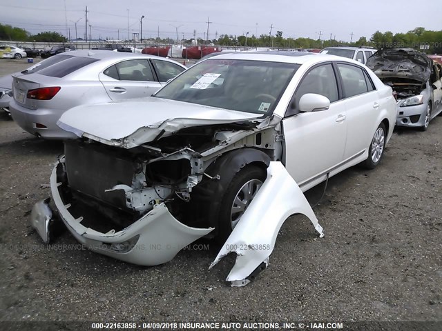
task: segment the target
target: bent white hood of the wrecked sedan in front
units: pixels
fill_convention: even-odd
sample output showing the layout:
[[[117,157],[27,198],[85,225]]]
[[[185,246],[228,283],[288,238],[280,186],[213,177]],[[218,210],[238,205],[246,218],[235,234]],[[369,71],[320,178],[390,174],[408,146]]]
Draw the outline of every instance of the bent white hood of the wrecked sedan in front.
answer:
[[[258,117],[262,114],[147,97],[71,108],[57,125],[78,137],[133,148],[170,136],[182,128],[259,121]]]

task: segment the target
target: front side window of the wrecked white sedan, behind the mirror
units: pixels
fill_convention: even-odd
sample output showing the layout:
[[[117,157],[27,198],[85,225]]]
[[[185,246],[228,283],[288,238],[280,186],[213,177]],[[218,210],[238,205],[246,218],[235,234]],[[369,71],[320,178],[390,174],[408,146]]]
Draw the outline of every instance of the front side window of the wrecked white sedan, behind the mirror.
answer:
[[[299,100],[306,93],[323,95],[330,102],[338,101],[338,86],[332,63],[317,66],[302,77],[296,89],[294,101],[291,103],[292,107],[285,114],[286,117],[299,112]]]

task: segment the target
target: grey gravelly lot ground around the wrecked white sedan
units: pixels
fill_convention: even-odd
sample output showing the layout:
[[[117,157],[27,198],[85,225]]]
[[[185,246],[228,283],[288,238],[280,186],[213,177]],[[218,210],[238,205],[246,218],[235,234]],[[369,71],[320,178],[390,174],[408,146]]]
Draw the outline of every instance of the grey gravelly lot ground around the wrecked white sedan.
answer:
[[[0,74],[25,61],[0,61]],[[441,141],[442,117],[427,132],[395,130],[378,168],[329,180],[314,209],[323,239],[290,217],[269,268],[231,288],[233,256],[207,270],[211,241],[151,268],[84,250],[68,232],[42,244],[29,213],[49,196],[63,145],[0,114],[0,321],[441,321]],[[311,204],[322,190],[307,192]]]

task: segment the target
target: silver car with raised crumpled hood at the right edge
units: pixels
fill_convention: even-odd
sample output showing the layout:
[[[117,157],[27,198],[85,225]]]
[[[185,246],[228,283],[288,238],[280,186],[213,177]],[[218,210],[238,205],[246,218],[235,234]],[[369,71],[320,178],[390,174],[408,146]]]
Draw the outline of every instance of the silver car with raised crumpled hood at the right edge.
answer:
[[[425,131],[430,121],[441,114],[441,72],[425,53],[411,48],[386,48],[370,57],[367,67],[393,88],[397,126]]]

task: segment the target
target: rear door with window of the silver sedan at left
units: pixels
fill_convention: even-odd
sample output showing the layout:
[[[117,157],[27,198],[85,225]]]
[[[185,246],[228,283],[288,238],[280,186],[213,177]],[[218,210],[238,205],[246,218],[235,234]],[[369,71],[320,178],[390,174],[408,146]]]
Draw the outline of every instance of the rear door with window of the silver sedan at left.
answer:
[[[148,59],[116,63],[100,72],[99,80],[112,100],[149,97],[161,88]]]

